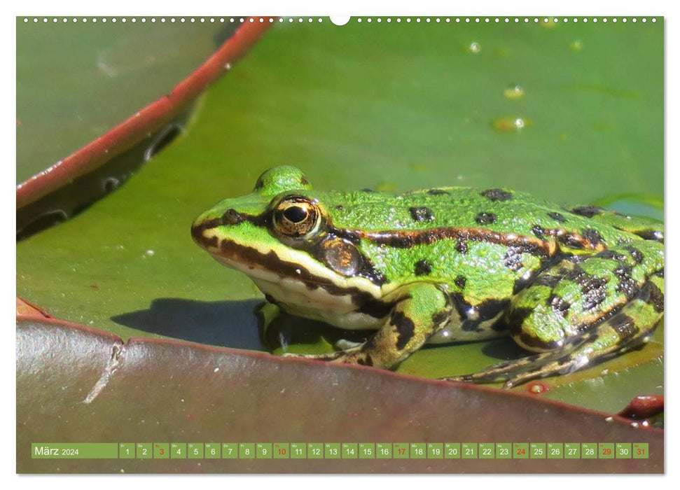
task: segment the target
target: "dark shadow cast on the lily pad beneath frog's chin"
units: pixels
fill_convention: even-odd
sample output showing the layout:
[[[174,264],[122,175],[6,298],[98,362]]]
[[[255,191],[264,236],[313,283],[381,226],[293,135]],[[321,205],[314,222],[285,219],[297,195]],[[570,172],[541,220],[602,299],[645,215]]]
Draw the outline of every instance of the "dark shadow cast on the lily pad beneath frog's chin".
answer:
[[[194,301],[163,297],[148,309],[111,317],[119,325],[174,339],[263,350],[254,314],[262,300]]]

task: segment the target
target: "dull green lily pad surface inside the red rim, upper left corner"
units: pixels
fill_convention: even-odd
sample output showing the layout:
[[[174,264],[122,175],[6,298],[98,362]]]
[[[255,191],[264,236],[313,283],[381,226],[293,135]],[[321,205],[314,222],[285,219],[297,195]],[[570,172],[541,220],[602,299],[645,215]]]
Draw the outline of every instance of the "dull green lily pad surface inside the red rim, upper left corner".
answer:
[[[62,19],[17,18],[17,183],[168,93],[236,28]]]

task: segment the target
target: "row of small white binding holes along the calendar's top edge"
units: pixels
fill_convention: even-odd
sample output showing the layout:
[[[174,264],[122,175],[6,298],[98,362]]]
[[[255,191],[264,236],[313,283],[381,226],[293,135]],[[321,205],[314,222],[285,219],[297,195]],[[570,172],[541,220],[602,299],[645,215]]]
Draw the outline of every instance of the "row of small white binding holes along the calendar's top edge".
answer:
[[[195,23],[195,22],[206,23],[206,22],[209,22],[209,23],[213,23],[213,24],[215,22],[220,22],[222,24],[225,23],[225,22],[229,22],[229,23],[234,23],[234,22],[237,22],[237,23],[261,22],[262,23],[262,22],[265,22],[264,18],[242,18],[242,17],[241,18],[223,18],[223,17],[221,17],[221,18],[214,18],[214,17],[209,17],[209,18],[204,18],[204,17],[201,17],[201,18],[193,18],[193,17],[190,17],[190,18],[183,18],[183,17],[181,17],[181,18],[174,18],[174,17],[171,17],[171,18],[165,18],[165,17],[155,18],[155,17],[152,17],[152,18],[148,18],[148,19],[144,18],[144,17],[139,18],[139,19],[137,19],[137,18],[129,18],[128,19],[128,18],[125,18],[125,17],[123,17],[123,18],[115,18],[115,17],[113,17],[113,18],[86,18],[86,17],[83,17],[83,18],[76,18],[76,17],[74,17],[74,18],[66,18],[66,17],[64,17],[64,18],[56,18],[56,17],[54,17],[54,18],[47,18],[47,17],[27,18],[27,17],[25,17],[24,23],[27,24],[29,22],[33,22],[34,24],[37,24],[39,22],[43,22],[43,23],[46,24],[46,23],[50,22],[50,20],[53,23],[60,22],[60,20],[61,20],[62,23],[83,22],[83,24],[85,24],[87,22],[92,22],[93,24],[96,24],[97,22],[101,22],[102,24],[106,24],[106,22],[112,22],[113,24],[116,24],[116,22],[122,22],[123,24],[125,24],[127,22],[132,22],[132,24],[135,24],[137,22],[141,22],[142,24],[144,24],[146,22],[151,22],[151,23],[169,22],[171,24],[176,23],[176,22],[179,22],[179,23],[186,23],[186,22],[189,22],[189,23]],[[576,17],[566,18],[565,17],[565,18],[562,18],[562,19],[557,18],[557,17],[554,17],[554,18],[548,18],[548,17],[544,17],[544,18],[538,18],[538,17],[534,17],[534,18],[528,18],[528,17],[525,17],[525,18],[519,18],[519,17],[515,17],[515,18],[508,18],[508,17],[506,17],[506,18],[498,18],[498,17],[495,17],[495,18],[489,18],[489,17],[484,17],[484,18],[480,18],[480,17],[475,17],[475,18],[469,18],[469,17],[465,17],[465,18],[458,18],[458,17],[457,18],[448,18],[448,17],[447,18],[439,18],[439,17],[437,17],[437,18],[429,18],[429,17],[419,18],[419,17],[417,17],[417,18],[413,18],[413,19],[410,18],[410,17],[403,18],[403,19],[402,18],[394,18],[394,19],[393,18],[384,18],[383,19],[383,18],[380,18],[380,17],[374,19],[374,18],[370,18],[370,17],[369,18],[359,17],[359,18],[356,18],[355,21],[359,22],[359,23],[364,22],[364,21],[371,23],[374,20],[378,24],[382,23],[383,21],[387,22],[388,24],[391,23],[391,22],[396,22],[396,23],[416,22],[416,23],[419,23],[419,22],[423,22],[423,21],[426,22],[426,23],[428,23],[428,22],[435,22],[435,23],[455,22],[457,24],[459,24],[459,23],[469,24],[471,22],[474,22],[476,24],[481,24],[481,23],[484,23],[484,24],[491,24],[491,23],[499,24],[501,22],[506,23],[506,24],[510,23],[510,22],[514,22],[515,24],[519,24],[520,22],[523,22],[525,24],[529,24],[530,22],[533,22],[534,24],[537,24],[539,22],[543,22],[543,23],[547,24],[549,22],[559,23],[560,20],[562,22],[572,22],[572,23],[592,22],[594,24],[597,23],[597,22],[602,22],[603,24],[606,24],[607,22],[612,22],[613,24],[616,24],[617,22],[623,22],[624,24],[626,24],[630,20],[630,22],[635,24],[637,22],[646,23],[648,21],[648,19],[646,17],[642,17],[642,18],[637,18],[637,17],[625,18],[624,17],[624,18],[620,18],[620,19],[619,18],[606,18],[606,17],[604,17],[604,18],[576,18]],[[649,20],[651,22],[656,22],[656,18],[651,18]],[[324,22],[324,20],[322,18],[301,18],[301,17],[300,18],[292,18],[292,17],[291,18],[278,18],[277,21],[279,23],[286,22],[286,21],[289,22],[289,23],[296,22],[296,21],[297,22],[307,21],[307,22],[310,22],[310,23],[314,22],[314,21]],[[269,18],[268,22],[273,23],[273,22],[275,22],[275,19]]]

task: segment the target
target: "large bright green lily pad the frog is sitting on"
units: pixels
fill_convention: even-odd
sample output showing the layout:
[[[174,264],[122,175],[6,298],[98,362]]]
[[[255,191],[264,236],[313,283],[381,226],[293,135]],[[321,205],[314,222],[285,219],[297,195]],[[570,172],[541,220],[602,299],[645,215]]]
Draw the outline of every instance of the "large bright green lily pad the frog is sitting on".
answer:
[[[560,204],[620,196],[660,203],[662,40],[662,20],[283,22],[134,179],[18,244],[18,295],[123,339],[265,350],[261,293],[200,251],[189,227],[274,165],[297,165],[325,189],[503,186]],[[659,357],[657,339],[644,360]],[[321,335],[312,348],[326,342]],[[433,377],[517,353],[494,342],[424,349],[400,370]],[[617,376],[636,394],[658,393],[662,364],[649,364],[642,377]],[[630,398],[617,390],[564,399],[623,408]]]

